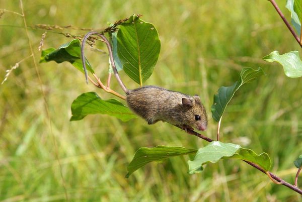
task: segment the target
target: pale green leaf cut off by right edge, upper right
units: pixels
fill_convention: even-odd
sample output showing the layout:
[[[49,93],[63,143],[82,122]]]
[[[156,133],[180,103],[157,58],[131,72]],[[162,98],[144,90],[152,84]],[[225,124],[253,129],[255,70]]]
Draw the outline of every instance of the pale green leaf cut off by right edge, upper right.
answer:
[[[302,61],[298,51],[290,51],[280,55],[278,51],[273,51],[262,58],[268,62],[278,62],[283,66],[286,76],[296,78],[302,76]]]

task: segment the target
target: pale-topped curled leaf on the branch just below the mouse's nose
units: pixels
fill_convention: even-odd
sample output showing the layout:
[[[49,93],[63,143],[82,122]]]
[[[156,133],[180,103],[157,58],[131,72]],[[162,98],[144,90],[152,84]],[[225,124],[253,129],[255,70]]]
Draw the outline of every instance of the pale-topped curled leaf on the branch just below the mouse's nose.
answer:
[[[188,161],[188,172],[189,174],[201,172],[204,164],[216,163],[218,160],[226,158],[250,161],[259,165],[265,171],[268,171],[271,167],[271,160],[266,153],[257,155],[253,150],[242,148],[240,145],[214,141],[198,149],[194,160]]]

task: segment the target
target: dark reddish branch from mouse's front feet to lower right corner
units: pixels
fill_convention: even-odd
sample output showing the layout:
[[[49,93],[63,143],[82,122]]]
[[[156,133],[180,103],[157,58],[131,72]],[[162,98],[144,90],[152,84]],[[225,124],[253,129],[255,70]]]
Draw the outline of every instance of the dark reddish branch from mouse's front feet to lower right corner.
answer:
[[[178,127],[178,126],[177,126],[177,127]],[[181,129],[181,127],[178,127],[178,128]],[[195,136],[197,136],[197,137],[199,137],[199,138],[201,138],[201,139],[203,139],[203,140],[205,140],[205,141],[207,141],[207,142],[212,142],[212,141],[214,141],[214,140],[212,140],[212,139],[210,139],[210,138],[208,138],[208,137],[205,137],[205,136],[203,136],[203,135],[201,135],[201,134],[199,134],[199,133],[197,133],[197,132],[195,132],[195,131],[193,131],[193,130],[190,130],[190,129],[187,129],[187,133],[189,133],[189,134],[191,134],[191,135],[195,135]],[[261,168],[259,165],[255,164],[255,163],[252,163],[252,162],[249,162],[249,161],[246,161],[246,160],[243,160],[243,161],[246,162],[247,164],[250,164],[250,165],[253,166],[254,168],[260,170],[260,171],[263,172],[264,174],[267,174],[267,175],[269,174],[269,175],[271,176],[271,178],[273,178],[274,180],[276,180],[277,184],[282,184],[282,185],[284,185],[284,186],[287,186],[288,188],[290,188],[290,189],[294,190],[295,192],[297,192],[297,193],[299,193],[299,194],[302,195],[302,190],[299,189],[297,186],[295,186],[295,185],[293,185],[293,184],[290,184],[290,183],[284,181],[282,178],[278,177],[277,175],[275,175],[275,174],[273,174],[273,173],[271,173],[271,172],[265,171],[263,168]],[[274,182],[274,183],[276,183],[276,182]]]

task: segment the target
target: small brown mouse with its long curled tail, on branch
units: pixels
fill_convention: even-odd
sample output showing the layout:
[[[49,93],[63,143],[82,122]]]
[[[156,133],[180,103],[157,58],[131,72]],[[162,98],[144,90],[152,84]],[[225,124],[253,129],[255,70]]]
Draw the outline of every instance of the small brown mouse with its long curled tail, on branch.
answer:
[[[128,107],[135,114],[144,118],[148,124],[164,121],[184,130],[193,130],[192,127],[201,131],[206,130],[207,115],[198,95],[190,96],[154,85],[147,85],[132,90],[126,88],[115,67],[110,43],[104,35],[98,32],[87,33],[82,41],[81,53],[86,80],[87,70],[84,62],[84,45],[86,39],[94,34],[100,36],[106,43],[115,77],[126,93]]]

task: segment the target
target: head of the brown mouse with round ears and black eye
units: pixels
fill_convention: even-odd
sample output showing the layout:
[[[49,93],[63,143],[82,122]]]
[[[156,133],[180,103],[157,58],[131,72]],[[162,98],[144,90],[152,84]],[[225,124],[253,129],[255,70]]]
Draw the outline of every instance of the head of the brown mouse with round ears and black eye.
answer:
[[[185,117],[183,120],[185,125],[204,131],[207,128],[207,115],[204,106],[201,104],[198,95],[194,95],[193,99],[183,97],[182,105],[185,109]]]

